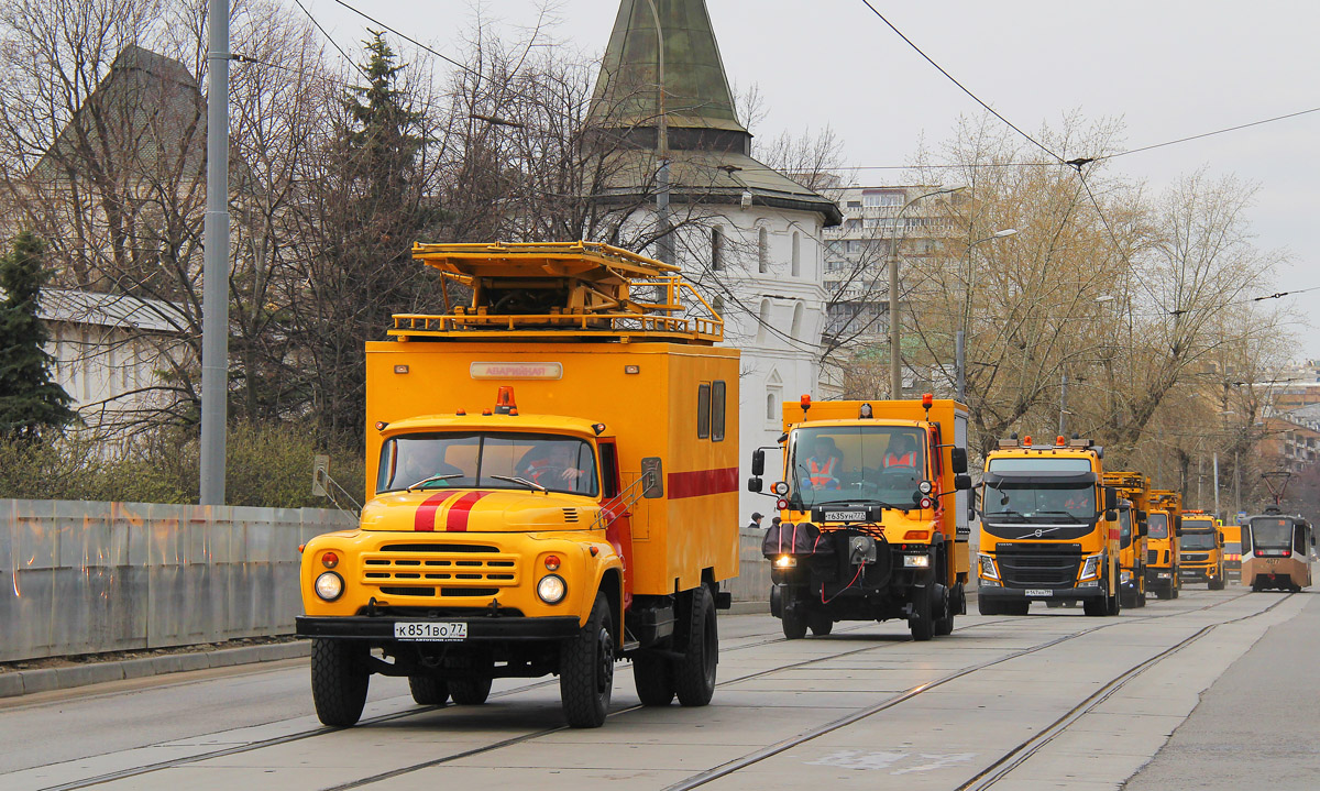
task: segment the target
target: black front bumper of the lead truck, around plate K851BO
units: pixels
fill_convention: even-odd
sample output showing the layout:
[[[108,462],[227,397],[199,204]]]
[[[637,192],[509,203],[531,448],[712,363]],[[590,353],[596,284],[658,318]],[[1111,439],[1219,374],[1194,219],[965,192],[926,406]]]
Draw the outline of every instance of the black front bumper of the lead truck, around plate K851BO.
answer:
[[[578,619],[574,615],[552,615],[544,618],[502,617],[502,618],[397,618],[384,615],[345,615],[294,618],[294,631],[300,636],[329,638],[341,640],[368,640],[372,643],[404,642],[395,639],[395,623],[466,623],[467,639],[474,642],[532,642],[558,640],[578,633]],[[407,640],[414,642],[414,640]]]

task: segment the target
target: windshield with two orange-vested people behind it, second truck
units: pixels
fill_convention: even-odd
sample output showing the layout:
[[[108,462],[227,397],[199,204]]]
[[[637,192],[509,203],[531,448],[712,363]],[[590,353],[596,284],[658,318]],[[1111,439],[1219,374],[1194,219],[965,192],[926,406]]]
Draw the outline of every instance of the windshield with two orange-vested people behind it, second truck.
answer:
[[[900,427],[805,427],[793,432],[789,502],[879,502],[913,507],[925,479],[925,432]]]

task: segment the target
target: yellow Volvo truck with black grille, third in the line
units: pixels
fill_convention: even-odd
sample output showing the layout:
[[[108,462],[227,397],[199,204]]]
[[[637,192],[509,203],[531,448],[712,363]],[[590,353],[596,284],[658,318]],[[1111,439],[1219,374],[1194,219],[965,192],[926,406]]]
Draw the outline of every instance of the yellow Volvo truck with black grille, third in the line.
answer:
[[[1119,507],[1131,504],[1104,486],[1102,458],[1092,440],[1034,445],[1016,434],[986,456],[977,556],[982,615],[1026,615],[1034,601],[1081,601],[1088,615],[1118,614]]]

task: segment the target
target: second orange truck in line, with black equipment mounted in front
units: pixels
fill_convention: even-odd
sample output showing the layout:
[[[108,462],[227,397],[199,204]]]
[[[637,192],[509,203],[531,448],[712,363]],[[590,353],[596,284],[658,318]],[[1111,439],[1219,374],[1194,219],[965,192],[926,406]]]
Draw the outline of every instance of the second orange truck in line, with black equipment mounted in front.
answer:
[[[829,634],[838,621],[903,618],[912,638],[953,631],[966,613],[968,408],[921,400],[783,407],[781,522],[762,544],[770,609],[784,636]],[[766,450],[751,491],[764,487]]]

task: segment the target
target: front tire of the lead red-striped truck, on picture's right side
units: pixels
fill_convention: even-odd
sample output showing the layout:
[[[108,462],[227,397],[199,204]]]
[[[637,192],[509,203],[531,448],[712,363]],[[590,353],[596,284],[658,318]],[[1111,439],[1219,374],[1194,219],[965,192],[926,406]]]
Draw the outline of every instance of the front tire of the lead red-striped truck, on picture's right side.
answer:
[[[614,691],[614,618],[603,593],[578,633],[560,643],[560,704],[570,728],[599,728]]]

